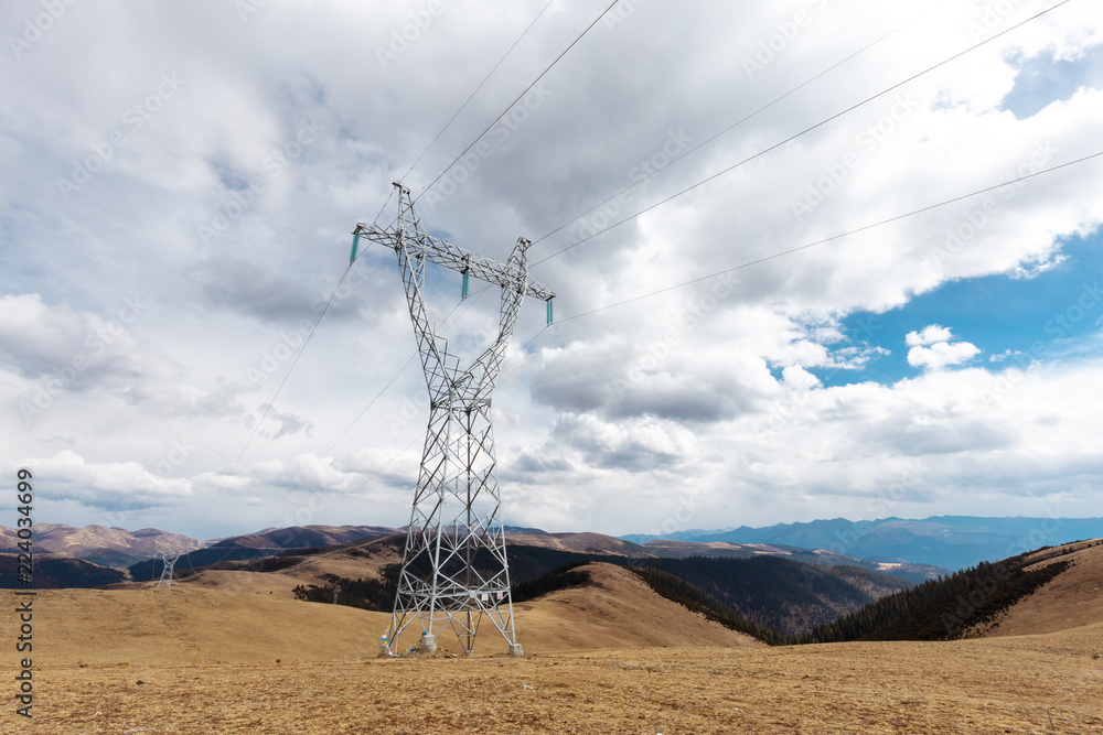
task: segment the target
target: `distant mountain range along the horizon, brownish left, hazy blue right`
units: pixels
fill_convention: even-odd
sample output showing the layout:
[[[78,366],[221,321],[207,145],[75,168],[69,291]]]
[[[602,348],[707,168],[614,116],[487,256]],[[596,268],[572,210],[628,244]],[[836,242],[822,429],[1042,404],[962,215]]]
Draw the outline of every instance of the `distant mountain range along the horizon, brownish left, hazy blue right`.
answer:
[[[81,559],[106,568],[150,566],[162,552],[183,552],[192,565],[221,560],[275,555],[288,549],[313,549],[363,539],[404,533],[387,526],[297,526],[200,541],[180,533],[147,528],[62,523],[34,527],[35,550]],[[1028,549],[1103,537],[1103,518],[981,518],[941,516],[925,519],[884,518],[852,521],[844,518],[764,528],[688,530],[665,536],[548,533],[507,527],[511,543],[559,548],[585,553],[655,558],[733,558],[781,555],[793,561],[853,565],[885,572],[910,582],[1004,559]],[[14,529],[0,527],[0,553],[18,552]]]

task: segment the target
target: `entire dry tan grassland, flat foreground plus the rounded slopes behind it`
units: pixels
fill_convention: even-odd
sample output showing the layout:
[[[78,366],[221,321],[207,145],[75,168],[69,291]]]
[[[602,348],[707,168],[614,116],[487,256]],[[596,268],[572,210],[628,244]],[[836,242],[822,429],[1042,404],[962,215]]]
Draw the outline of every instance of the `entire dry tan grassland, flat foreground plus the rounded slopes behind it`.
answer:
[[[595,566],[597,586],[518,606],[524,659],[499,652],[491,629],[473,659],[379,660],[386,615],[234,590],[229,580],[225,588],[43,592],[33,727],[14,715],[9,687],[0,729],[1103,733],[1092,586],[1101,552],[1078,552],[1077,566],[1013,609],[996,637],[941,644],[769,648],[608,565]],[[1029,628],[1024,606],[1048,610],[1047,598],[1078,612],[1063,628],[1047,613],[1046,631],[1007,635],[1011,620]],[[12,671],[12,647],[4,650]]]

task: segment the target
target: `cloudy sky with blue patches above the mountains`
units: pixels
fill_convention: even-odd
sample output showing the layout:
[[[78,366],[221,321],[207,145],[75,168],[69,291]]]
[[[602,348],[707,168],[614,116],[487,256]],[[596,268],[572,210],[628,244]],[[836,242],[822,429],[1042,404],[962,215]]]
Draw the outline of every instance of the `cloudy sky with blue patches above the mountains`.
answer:
[[[400,181],[556,293],[493,397],[508,525],[1103,516],[1101,31],[1093,0],[6,2],[0,473],[39,522],[408,522],[426,383],[394,251],[349,262]],[[497,287],[428,270],[470,360]]]

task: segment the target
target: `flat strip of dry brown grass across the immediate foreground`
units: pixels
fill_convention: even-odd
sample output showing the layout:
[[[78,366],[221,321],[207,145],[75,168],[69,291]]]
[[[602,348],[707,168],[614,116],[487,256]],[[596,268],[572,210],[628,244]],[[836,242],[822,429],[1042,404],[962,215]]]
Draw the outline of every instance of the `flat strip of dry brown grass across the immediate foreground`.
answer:
[[[952,642],[524,659],[46,664],[34,673],[33,727],[2,732],[1079,735],[1103,731],[1101,652],[1103,624]]]

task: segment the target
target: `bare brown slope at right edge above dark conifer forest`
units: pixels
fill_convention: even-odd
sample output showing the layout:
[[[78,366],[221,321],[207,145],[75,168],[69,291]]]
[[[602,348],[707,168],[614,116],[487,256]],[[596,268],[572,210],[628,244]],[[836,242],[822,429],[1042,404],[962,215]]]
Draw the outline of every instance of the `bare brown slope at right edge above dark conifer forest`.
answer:
[[[1062,560],[1071,561],[1072,566],[1015,604],[982,635],[1056,633],[1103,621],[1103,540],[1046,549],[1030,560],[1035,563],[1028,570]]]

